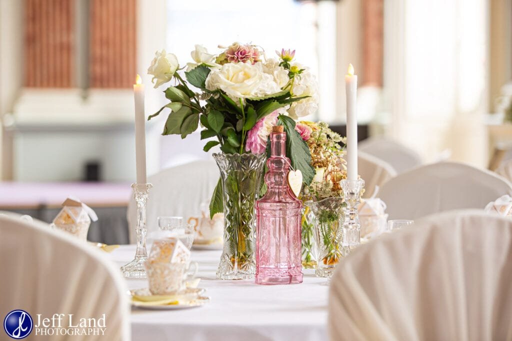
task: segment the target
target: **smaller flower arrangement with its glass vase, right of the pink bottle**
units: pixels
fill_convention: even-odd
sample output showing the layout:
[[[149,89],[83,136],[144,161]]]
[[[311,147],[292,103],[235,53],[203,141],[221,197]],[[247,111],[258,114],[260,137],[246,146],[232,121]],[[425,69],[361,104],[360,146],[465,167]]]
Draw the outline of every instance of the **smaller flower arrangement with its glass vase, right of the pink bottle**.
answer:
[[[302,219],[303,266],[316,267],[317,274],[328,275],[342,256],[341,233],[344,219],[343,189],[339,182],[347,178],[346,138],[333,132],[324,122],[298,122],[297,126],[311,153],[316,174],[304,186]],[[313,243],[313,239],[315,243]],[[316,264],[317,260],[319,264]]]

